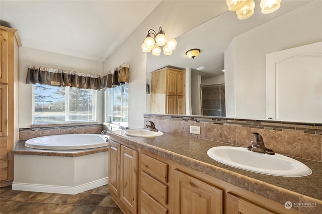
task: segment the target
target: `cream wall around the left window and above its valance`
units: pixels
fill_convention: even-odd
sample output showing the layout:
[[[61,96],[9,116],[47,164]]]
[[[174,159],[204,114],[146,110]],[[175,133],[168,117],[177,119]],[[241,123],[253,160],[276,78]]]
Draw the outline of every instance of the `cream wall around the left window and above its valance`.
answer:
[[[26,84],[29,65],[103,74],[103,63],[37,49],[19,48],[19,128],[32,124],[32,84]],[[103,123],[103,91],[97,91],[97,122]]]

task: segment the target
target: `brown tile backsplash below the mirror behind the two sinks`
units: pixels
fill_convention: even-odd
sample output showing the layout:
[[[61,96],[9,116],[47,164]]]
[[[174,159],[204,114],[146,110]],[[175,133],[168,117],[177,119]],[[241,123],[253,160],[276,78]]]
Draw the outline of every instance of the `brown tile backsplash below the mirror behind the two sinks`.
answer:
[[[254,140],[250,132],[258,132],[265,146],[276,153],[322,162],[322,124],[144,114],[147,120],[162,132],[243,147]],[[199,126],[200,135],[190,134],[190,126]]]

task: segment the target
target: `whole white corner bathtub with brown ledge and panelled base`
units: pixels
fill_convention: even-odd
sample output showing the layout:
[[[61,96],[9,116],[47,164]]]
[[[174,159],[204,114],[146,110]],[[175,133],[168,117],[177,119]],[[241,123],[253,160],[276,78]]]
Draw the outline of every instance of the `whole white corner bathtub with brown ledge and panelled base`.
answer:
[[[107,137],[68,134],[18,142],[12,189],[77,194],[108,184]]]

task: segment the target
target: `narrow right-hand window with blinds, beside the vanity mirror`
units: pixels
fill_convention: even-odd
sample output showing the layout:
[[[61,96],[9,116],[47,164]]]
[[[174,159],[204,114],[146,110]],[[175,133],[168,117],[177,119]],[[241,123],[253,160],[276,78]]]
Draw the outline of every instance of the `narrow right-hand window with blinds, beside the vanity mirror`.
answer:
[[[128,127],[129,85],[106,90],[106,122]]]

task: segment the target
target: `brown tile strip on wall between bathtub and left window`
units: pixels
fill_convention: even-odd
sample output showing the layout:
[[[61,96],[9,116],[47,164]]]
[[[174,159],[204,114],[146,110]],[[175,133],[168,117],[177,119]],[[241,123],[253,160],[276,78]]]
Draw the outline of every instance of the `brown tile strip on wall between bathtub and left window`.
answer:
[[[19,129],[19,140],[29,140],[48,135],[100,134],[103,129],[103,124],[35,125],[32,128]]]

